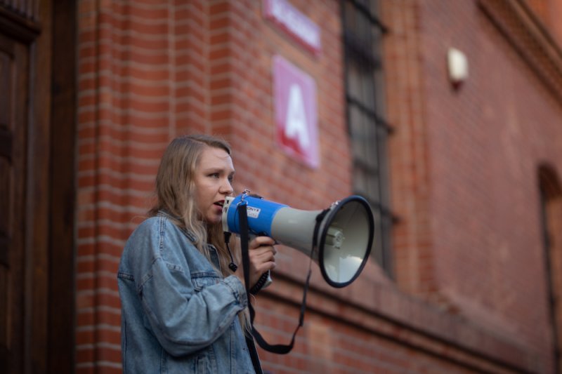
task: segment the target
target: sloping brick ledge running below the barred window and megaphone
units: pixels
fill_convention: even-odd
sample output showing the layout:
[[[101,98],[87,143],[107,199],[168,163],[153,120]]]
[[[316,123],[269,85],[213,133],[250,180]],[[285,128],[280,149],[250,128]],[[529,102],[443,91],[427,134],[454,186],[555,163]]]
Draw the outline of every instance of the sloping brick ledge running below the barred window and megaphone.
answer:
[[[373,283],[360,277],[353,285],[336,289],[315,270],[307,310],[478,372],[543,373],[547,369],[547,363],[529,347],[400,293],[384,280]],[[274,282],[261,297],[301,304],[302,279],[283,272],[274,275]]]

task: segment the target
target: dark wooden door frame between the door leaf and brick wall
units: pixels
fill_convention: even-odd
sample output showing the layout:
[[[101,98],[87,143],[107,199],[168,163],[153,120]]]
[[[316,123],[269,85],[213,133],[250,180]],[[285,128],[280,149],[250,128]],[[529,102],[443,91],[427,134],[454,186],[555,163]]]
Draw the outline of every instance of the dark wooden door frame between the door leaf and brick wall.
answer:
[[[4,4],[4,3],[2,3]],[[14,334],[22,373],[75,371],[77,8],[31,1],[0,5],[0,32],[27,46],[25,265],[22,325]],[[29,5],[29,4],[28,4]],[[4,363],[3,363],[4,365]]]

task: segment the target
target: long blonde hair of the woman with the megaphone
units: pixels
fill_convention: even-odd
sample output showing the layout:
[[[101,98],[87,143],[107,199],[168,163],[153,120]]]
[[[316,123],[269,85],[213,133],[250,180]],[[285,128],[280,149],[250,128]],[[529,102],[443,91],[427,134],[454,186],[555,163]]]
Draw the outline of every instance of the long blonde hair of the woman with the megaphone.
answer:
[[[166,211],[174,224],[195,235],[195,246],[209,262],[209,250],[205,243],[212,244],[218,251],[221,274],[228,276],[233,272],[228,267],[230,254],[224,243],[221,223],[202,221],[195,201],[195,171],[206,147],[223,149],[230,154],[228,142],[210,135],[184,135],[170,142],[156,175],[157,201],[148,215]]]

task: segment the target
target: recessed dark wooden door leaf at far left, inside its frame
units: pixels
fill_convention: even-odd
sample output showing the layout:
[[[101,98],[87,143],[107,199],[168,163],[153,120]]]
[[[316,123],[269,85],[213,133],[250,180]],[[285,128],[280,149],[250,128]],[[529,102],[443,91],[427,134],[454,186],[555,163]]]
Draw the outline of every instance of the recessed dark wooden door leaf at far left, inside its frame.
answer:
[[[25,142],[29,51],[0,34],[0,362],[22,371],[25,310]]]

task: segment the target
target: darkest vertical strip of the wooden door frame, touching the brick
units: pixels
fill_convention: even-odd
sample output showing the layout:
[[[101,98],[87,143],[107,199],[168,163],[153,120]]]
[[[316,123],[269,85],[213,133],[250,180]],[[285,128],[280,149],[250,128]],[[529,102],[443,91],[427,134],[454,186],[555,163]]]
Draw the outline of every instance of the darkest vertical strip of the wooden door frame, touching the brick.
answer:
[[[53,1],[48,372],[75,369],[77,6]]]

